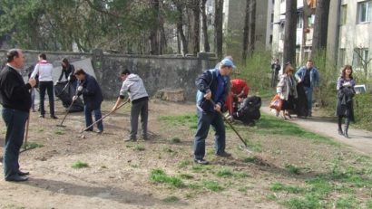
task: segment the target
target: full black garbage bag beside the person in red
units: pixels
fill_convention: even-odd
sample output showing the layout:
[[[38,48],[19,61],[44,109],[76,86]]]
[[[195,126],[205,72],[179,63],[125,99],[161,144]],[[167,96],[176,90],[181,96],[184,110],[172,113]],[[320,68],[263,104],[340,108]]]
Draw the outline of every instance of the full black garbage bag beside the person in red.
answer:
[[[257,96],[251,96],[243,100],[240,105],[240,109],[232,114],[234,119],[238,119],[244,124],[251,124],[261,117],[259,108],[261,107],[261,98]]]

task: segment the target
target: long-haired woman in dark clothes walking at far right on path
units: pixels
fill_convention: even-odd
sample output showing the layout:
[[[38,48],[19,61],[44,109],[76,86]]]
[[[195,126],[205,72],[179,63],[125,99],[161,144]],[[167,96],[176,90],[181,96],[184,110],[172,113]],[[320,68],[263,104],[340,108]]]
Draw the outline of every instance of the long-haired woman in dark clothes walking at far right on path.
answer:
[[[338,106],[336,115],[338,116],[338,134],[348,138],[348,124],[350,120],[354,121],[353,97],[355,95],[354,86],[356,82],[353,79],[353,68],[345,65],[341,76],[338,78]],[[342,118],[345,117],[345,129],[342,131]]]

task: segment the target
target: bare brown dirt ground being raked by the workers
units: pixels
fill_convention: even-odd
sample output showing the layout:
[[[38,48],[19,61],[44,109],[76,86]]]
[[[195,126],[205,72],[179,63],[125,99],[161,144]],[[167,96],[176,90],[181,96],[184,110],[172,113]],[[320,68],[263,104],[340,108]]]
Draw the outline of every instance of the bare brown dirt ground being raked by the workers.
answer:
[[[104,102],[103,114],[112,105],[113,101]],[[192,115],[193,103],[152,100],[151,140],[129,143],[122,140],[130,128],[129,106],[104,119],[102,135],[89,132],[84,133],[84,138],[79,133],[84,126],[83,113],[68,115],[64,121],[66,127],[58,128],[64,111],[60,104],[56,109],[60,118],[57,120],[40,119],[37,112],[31,114],[28,141],[44,147],[21,153],[21,168],[31,173],[27,182],[5,182],[0,176],[1,208],[281,208],[282,205],[267,198],[271,194],[270,184],[277,181],[304,184],[309,176],[326,172],[328,159],[339,156],[353,159],[356,155],[349,147],[312,143],[300,137],[258,135],[255,128],[239,127],[244,138],[261,145],[261,151],[248,153],[240,147],[239,138],[229,131],[227,150],[232,157],[214,157],[210,132],[206,158],[211,166],[200,168],[192,163],[194,129],[159,119]],[[0,145],[4,146],[3,120],[0,127]],[[174,138],[181,142],[172,143]],[[252,156],[257,159],[245,161]],[[73,168],[78,160],[89,166]],[[285,168],[289,164],[305,167],[307,171],[301,176],[292,175]],[[242,177],[215,175],[226,167],[243,174]],[[162,169],[170,176],[189,174],[192,179],[184,180],[188,185],[211,180],[224,189],[215,192],[153,183],[152,169]],[[167,201],[169,197],[175,197],[176,201]]]

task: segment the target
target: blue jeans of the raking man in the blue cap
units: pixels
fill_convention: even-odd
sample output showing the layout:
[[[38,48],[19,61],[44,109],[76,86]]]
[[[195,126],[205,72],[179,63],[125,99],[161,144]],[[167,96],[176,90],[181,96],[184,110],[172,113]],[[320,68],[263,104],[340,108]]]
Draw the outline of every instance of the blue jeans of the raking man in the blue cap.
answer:
[[[219,112],[201,112],[197,110],[198,128],[194,139],[194,158],[203,159],[205,156],[205,139],[208,137],[210,125],[216,132],[214,134],[214,148],[216,154],[225,152],[225,125]]]

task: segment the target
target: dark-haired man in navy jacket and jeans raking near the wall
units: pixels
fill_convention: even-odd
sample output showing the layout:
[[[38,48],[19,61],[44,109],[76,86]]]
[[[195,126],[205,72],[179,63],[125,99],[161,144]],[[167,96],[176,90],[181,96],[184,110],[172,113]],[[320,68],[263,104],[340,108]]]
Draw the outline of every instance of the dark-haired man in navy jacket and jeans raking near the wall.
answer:
[[[74,73],[78,82],[76,90],[76,96],[73,96],[73,100],[83,94],[84,100],[84,113],[85,113],[85,126],[89,127],[93,124],[92,112],[94,112],[95,121],[102,118],[101,103],[103,101],[103,94],[98,82],[93,76],[87,74],[83,69],[79,69]],[[97,123],[98,133],[103,132],[103,122],[100,120]],[[93,127],[87,129],[87,131],[93,131]]]

